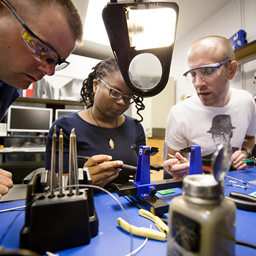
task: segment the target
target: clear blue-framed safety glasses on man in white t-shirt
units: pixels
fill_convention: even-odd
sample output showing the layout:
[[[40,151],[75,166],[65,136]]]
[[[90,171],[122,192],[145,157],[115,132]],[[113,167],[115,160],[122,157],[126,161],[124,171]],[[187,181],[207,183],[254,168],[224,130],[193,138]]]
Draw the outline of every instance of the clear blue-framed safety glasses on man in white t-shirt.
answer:
[[[186,73],[183,74],[184,77],[186,77],[186,80],[190,84],[196,84],[196,76],[200,77],[203,81],[208,82],[216,79],[221,74],[220,67],[227,63],[228,61],[231,62],[231,59],[228,58],[225,61],[222,61],[221,63],[214,63],[209,65],[204,65],[202,67],[198,68],[192,68],[191,70],[188,70]]]

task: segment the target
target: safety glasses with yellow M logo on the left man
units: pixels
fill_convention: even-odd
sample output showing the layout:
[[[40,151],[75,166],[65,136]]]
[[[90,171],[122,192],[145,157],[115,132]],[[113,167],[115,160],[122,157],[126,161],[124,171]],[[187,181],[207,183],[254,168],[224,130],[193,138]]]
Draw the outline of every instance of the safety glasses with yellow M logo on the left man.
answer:
[[[42,39],[31,31],[28,25],[20,17],[20,15],[13,9],[13,7],[6,1],[1,0],[8,8],[12,11],[13,15],[19,20],[20,24],[23,26],[21,30],[21,36],[24,44],[28,47],[29,51],[33,54],[36,60],[46,61],[48,65],[56,65],[55,70],[62,70],[69,65],[68,61],[61,60],[60,54],[55,51],[51,46],[47,45]]]

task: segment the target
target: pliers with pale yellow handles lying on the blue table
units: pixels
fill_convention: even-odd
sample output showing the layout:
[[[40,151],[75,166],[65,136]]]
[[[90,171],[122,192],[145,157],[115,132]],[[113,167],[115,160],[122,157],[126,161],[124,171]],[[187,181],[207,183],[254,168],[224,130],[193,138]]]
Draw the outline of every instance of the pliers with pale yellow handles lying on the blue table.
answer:
[[[145,209],[140,209],[140,215],[148,218],[149,220],[154,221],[156,227],[160,230],[154,230],[145,227],[136,227],[134,225],[130,225],[127,221],[122,218],[117,219],[118,225],[123,228],[125,231],[141,237],[148,237],[150,239],[155,239],[159,241],[166,241],[166,236],[168,234],[169,228],[168,226],[156,215],[152,214],[152,212],[146,211]]]

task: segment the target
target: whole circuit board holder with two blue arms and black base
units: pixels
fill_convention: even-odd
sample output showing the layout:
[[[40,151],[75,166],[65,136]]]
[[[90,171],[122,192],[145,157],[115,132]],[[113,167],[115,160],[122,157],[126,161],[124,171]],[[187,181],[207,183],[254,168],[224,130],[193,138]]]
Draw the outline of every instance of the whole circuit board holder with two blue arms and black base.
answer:
[[[191,152],[189,174],[203,173],[200,146],[191,146],[189,149]],[[158,198],[155,195],[156,192],[163,189],[181,187],[182,178],[155,180],[154,183],[150,182],[150,156],[154,152],[156,152],[156,148],[140,147],[135,182],[117,185],[116,193],[118,196],[133,196],[134,200],[140,201],[148,211],[161,216],[168,212],[169,205],[161,200],[161,198]]]

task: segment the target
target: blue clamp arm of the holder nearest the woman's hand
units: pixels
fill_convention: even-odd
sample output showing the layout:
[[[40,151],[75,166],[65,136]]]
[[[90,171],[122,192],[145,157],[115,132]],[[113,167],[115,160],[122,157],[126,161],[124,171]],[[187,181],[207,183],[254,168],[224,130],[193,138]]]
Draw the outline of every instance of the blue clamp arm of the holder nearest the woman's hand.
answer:
[[[140,146],[136,179],[132,184],[138,188],[138,195],[141,197],[156,194],[156,184],[150,182],[150,156],[157,152],[157,148]]]

